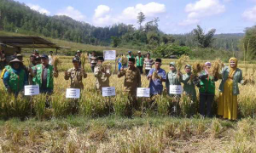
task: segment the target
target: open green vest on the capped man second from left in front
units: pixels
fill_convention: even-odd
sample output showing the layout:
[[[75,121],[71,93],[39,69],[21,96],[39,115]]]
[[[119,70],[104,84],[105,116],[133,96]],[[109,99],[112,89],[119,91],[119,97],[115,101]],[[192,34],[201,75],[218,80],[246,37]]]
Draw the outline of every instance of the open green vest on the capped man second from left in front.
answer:
[[[33,67],[33,70],[37,70],[37,74],[33,79],[33,84],[38,84],[39,87],[42,87],[42,73],[43,73],[43,65],[35,65]],[[47,85],[46,88],[53,88],[54,82],[53,82],[53,66],[48,65],[47,68]]]

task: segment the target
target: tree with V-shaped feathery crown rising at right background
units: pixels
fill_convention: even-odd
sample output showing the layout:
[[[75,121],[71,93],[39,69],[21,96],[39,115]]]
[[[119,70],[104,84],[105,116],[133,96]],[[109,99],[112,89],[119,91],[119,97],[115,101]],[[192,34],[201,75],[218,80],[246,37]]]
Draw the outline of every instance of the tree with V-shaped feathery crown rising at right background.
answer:
[[[192,31],[195,41],[198,42],[198,46],[201,48],[209,48],[214,41],[214,34],[216,29],[212,29],[205,34],[201,26],[197,25],[197,28]]]

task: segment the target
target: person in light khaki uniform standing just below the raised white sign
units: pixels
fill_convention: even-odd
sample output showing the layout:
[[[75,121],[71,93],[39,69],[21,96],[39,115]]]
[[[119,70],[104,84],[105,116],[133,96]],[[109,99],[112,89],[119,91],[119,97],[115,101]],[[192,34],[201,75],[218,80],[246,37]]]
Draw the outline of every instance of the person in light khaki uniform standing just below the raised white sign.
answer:
[[[94,76],[96,77],[96,89],[102,91],[103,87],[109,87],[109,77],[111,76],[110,67],[102,65],[104,62],[103,57],[98,57],[98,63],[94,70]]]

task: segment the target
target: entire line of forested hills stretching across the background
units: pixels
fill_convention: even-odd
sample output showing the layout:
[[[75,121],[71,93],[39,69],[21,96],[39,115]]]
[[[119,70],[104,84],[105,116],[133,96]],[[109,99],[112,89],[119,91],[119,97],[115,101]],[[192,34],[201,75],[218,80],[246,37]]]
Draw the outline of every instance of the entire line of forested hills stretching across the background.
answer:
[[[146,16],[141,12],[141,22]],[[108,27],[91,26],[88,23],[73,20],[67,16],[47,16],[32,10],[24,3],[14,0],[0,0],[0,30],[18,33],[31,33],[44,37],[79,42],[92,45],[102,45],[154,50],[160,44],[175,43],[178,46],[194,48],[198,46],[192,32],[183,35],[165,34],[159,30],[159,18],[154,18],[139,29],[133,25],[117,24]],[[214,34],[213,34],[214,35]],[[244,34],[214,35],[212,48],[224,50],[239,50],[238,44]]]

